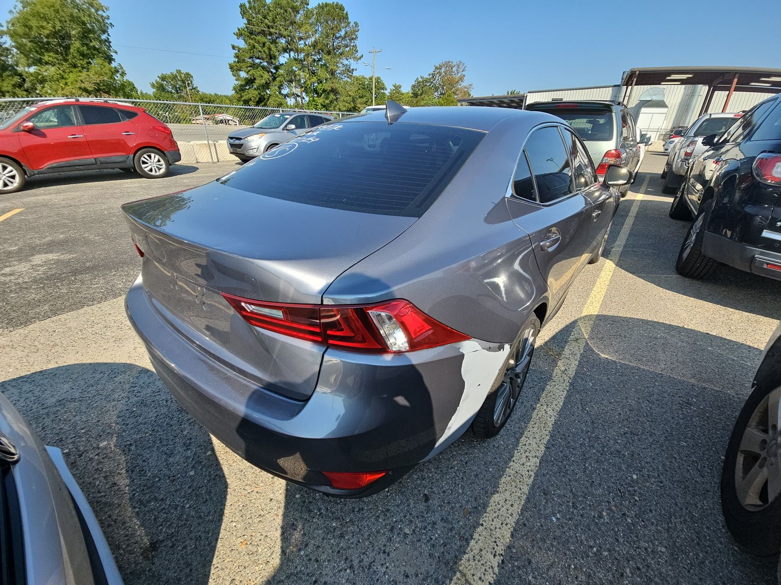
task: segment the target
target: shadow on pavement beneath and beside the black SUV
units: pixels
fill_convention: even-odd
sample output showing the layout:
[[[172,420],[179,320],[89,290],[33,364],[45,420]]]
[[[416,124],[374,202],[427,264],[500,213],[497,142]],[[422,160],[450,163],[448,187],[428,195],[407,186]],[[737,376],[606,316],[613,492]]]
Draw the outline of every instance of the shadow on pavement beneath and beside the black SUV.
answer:
[[[651,189],[647,189],[647,193],[650,192]],[[672,197],[669,201],[672,202]],[[720,265],[714,274],[702,279],[686,278],[676,272],[676,259],[690,222],[669,218],[669,206],[670,203],[664,200],[640,201],[637,220],[632,227],[632,239],[622,250],[616,265],[672,293],[771,319],[781,319],[779,281],[726,264]],[[612,236],[615,234],[612,233]],[[612,243],[611,238],[608,240],[608,252]]]

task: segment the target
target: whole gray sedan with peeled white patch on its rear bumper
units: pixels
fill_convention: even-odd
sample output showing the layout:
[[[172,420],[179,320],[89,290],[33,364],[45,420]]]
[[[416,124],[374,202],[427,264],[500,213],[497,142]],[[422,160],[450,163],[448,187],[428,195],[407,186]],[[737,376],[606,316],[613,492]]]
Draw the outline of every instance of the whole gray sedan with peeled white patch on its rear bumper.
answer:
[[[141,255],[127,314],[230,449],[367,495],[467,428],[505,426],[631,179],[611,165],[599,182],[553,115],[389,101],[123,205]]]

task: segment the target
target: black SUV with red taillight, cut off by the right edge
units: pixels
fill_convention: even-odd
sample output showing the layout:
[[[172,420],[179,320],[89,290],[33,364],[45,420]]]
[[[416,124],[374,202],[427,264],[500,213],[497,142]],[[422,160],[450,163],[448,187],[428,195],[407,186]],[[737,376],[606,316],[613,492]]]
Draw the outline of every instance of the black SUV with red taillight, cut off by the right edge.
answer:
[[[676,271],[701,278],[722,262],[781,280],[781,95],[703,144],[670,207],[673,219],[694,218]]]

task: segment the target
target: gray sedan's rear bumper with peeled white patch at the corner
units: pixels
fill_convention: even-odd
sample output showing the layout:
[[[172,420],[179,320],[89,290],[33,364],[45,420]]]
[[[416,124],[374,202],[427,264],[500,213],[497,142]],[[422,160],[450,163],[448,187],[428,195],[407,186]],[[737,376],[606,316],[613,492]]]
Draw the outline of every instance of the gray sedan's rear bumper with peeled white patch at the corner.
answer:
[[[477,353],[501,358],[496,346],[489,352],[488,344],[470,340],[394,356],[331,348],[312,396],[299,401],[256,385],[187,341],[155,309],[141,278],[126,309],[155,371],[194,419],[249,463],[330,495],[380,491],[444,449],[469,426],[500,370],[465,410],[464,364],[475,363]],[[333,489],[321,473],[378,470],[390,473],[362,490]]]

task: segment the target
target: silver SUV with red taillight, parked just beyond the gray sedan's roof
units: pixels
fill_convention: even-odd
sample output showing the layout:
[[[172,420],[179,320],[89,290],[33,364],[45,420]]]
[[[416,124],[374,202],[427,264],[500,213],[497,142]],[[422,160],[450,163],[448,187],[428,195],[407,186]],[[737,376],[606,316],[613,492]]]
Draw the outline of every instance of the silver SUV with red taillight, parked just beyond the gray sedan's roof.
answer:
[[[629,168],[633,176],[640,170],[640,144],[650,144],[651,136],[640,137],[633,115],[619,101],[538,101],[527,110],[556,115],[572,126],[586,143],[599,180],[608,165]],[[619,189],[626,196],[629,186]]]

